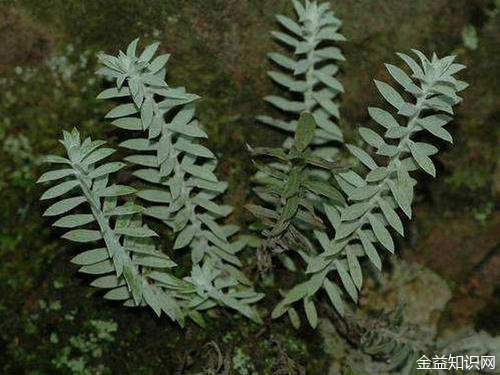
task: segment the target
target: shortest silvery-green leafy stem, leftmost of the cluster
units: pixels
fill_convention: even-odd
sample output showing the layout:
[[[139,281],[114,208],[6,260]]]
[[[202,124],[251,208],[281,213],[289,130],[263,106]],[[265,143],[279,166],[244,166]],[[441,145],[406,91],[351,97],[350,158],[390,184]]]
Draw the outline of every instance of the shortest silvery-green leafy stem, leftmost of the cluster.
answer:
[[[76,129],[64,132],[61,143],[67,157],[49,156],[47,161],[63,168],[46,172],[38,182],[56,183],[41,199],[57,198],[44,215],[62,216],[53,223],[67,230],[62,238],[89,247],[72,262],[80,272],[95,275],[91,285],[106,289],[104,298],[149,306],[182,325],[191,310],[196,313],[184,302],[185,295],[194,296],[194,286],[170,273],[176,264],[157,250],[153,241],[157,234],[142,222],[144,207],[125,198],[135,189],[110,184],[110,175],[125,164],[105,161],[114,150],[102,147],[103,141],[82,141]],[[82,205],[86,208],[74,211]],[[156,274],[169,282],[157,280]]]

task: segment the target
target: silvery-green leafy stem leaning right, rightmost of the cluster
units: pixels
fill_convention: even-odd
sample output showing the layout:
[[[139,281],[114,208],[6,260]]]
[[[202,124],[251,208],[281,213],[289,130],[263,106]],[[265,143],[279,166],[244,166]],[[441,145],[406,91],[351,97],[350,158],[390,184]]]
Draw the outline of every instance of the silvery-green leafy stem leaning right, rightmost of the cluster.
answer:
[[[391,232],[404,235],[399,212],[411,218],[416,181],[410,173],[422,170],[436,175],[431,156],[438,148],[417,137],[426,132],[435,139],[452,141],[444,126],[461,101],[458,92],[467,87],[454,77],[465,67],[454,63],[454,56],[438,58],[434,54],[429,59],[420,51],[413,52],[416,58],[398,54],[409,72],[386,65],[397,86],[375,81],[389,105],[387,109],[372,107],[368,112],[382,127],[383,135],[371,128],[360,128],[360,135],[375,150],[376,158],[357,146],[348,146],[367,173],[361,176],[347,171],[335,176],[349,204],[325,207],[327,223],[335,236],[323,240],[324,251],[309,259],[306,272],[310,279],[288,292],[276,307],[275,316],[287,312],[296,301],[313,298],[320,289],[342,315],[346,294],[356,302],[362,288],[360,261],[366,258],[381,270],[381,250],[395,251]],[[407,97],[412,99],[407,101]]]

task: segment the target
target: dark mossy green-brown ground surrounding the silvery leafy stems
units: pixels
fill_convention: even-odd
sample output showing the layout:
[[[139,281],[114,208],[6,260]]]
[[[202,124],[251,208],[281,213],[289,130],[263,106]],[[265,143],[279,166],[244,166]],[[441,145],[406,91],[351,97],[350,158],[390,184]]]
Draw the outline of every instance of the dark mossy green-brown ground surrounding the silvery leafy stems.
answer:
[[[339,79],[346,89],[340,125],[350,142],[368,121],[367,106],[380,102],[372,79],[387,78],[384,62],[399,64],[394,52],[453,52],[468,66],[461,77],[471,86],[449,128],[454,145],[441,145],[437,179],[419,176],[415,218],[399,256],[433,270],[450,291],[433,324],[500,334],[498,2],[331,3],[348,39]],[[103,120],[112,104],[95,100],[103,86],[94,74],[96,53],[114,54],[142,36],[172,53],[167,81],[203,97],[197,113],[220,158],[220,177],[230,183],[231,220],[245,227],[252,170],[244,145],[283,139],[254,120],[271,111],[261,98],[278,91],[265,57],[277,49],[269,37],[275,13],[291,15],[289,1],[0,2],[0,371],[182,374],[215,368],[222,358],[235,374],[335,373],[327,345],[335,332],[297,333],[286,321],[258,327],[224,312],[206,331],[181,330],[147,310],[102,300],[69,263],[76,247],[41,217],[35,186],[45,168],[41,156],[62,152],[56,140],[63,129],[78,125],[116,144],[118,132]],[[476,39],[464,39],[464,28]],[[251,252],[246,256],[255,274]],[[428,296],[434,284],[422,285]],[[276,298],[271,293],[263,311]]]

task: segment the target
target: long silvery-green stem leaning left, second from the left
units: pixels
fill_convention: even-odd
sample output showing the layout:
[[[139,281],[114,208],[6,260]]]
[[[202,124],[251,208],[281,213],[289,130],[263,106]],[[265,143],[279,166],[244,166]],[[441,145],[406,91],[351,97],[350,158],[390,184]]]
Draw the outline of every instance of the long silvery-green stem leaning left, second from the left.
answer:
[[[217,159],[200,143],[208,136],[195,118],[199,97],[167,85],[168,55],[155,57],[158,44],[138,54],[137,43],[134,40],[118,56],[100,56],[104,65],[100,73],[111,77],[115,87],[98,97],[119,97],[123,103],[106,117],[133,134],[120,146],[129,151],[125,161],[134,165],[134,176],[147,184],[136,193],[145,206],[143,214],[161,220],[176,233],[174,249],[189,248],[193,267],[204,269],[207,264],[217,271],[220,281],[215,286],[228,293],[246,290],[251,283],[239,270],[242,264],[237,256],[246,244],[243,238],[233,239],[237,227],[220,223],[232,207],[218,202],[227,183],[218,180]],[[137,134],[143,135],[137,138]],[[217,301],[244,310],[231,299]],[[246,310],[242,314],[258,316]]]

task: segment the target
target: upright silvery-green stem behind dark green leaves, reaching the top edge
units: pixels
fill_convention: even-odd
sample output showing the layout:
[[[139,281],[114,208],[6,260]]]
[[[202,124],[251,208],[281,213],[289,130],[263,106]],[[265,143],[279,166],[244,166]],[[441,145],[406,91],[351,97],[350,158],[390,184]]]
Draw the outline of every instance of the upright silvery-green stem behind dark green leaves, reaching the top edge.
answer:
[[[339,67],[338,61],[345,60],[341,50],[332,45],[335,42],[344,41],[345,38],[339,33],[341,22],[335,17],[330,10],[330,4],[316,1],[306,0],[301,3],[298,0],[292,1],[296,20],[293,20],[284,15],[277,15],[276,19],[284,32],[273,31],[272,36],[285,46],[285,54],[269,53],[268,57],[271,62],[280,68],[280,71],[269,71],[269,77],[278,85],[284,87],[287,92],[285,97],[282,96],[266,96],[264,99],[272,104],[277,109],[285,112],[285,120],[272,118],[269,116],[258,116],[257,119],[267,125],[286,131],[291,136],[287,137],[283,143],[286,152],[294,145],[294,134],[297,130],[298,120],[301,113],[310,113],[315,123],[314,136],[308,145],[308,152],[314,153],[315,156],[332,161],[338,154],[336,147],[343,141],[343,136],[336,121],[339,119],[338,105],[333,101],[339,93],[343,92],[342,84],[335,78]],[[289,51],[293,52],[290,57]],[[310,157],[310,156],[309,156]],[[272,168],[276,171],[287,173],[289,168],[286,165],[281,165],[282,160],[275,158],[272,164],[266,168]],[[323,165],[324,163],[321,162]],[[327,182],[332,178],[324,167],[317,167],[314,163],[309,163],[304,167],[304,173],[324,180]],[[260,185],[269,185],[273,181],[269,181],[269,176],[262,170],[259,170],[255,176],[255,181]],[[315,181],[316,184],[319,181]],[[328,182],[327,182],[328,184]],[[316,186],[316,190],[322,189],[322,193],[317,193],[313,189],[309,189],[307,195],[310,210],[316,205],[316,209],[323,210],[323,205],[328,203],[334,205],[339,199],[339,193],[335,192],[334,188],[327,185],[321,187]],[[256,193],[271,206],[276,204],[276,199],[272,199],[262,192],[267,188],[257,188]],[[328,193],[325,194],[325,190]],[[334,198],[332,198],[332,196]],[[280,207],[274,207],[275,211],[279,211]],[[257,213],[255,208],[253,213]],[[260,215],[262,216],[262,215]],[[296,223],[306,231],[312,231],[317,227],[311,224],[311,221],[300,220]],[[292,226],[294,228],[294,226]],[[254,226],[254,229],[261,230],[259,226]],[[294,228],[296,231],[297,228]],[[277,229],[276,229],[277,230]],[[297,235],[297,234],[296,234]],[[281,242],[279,247],[272,249],[269,238],[263,243],[254,242],[257,246],[257,258],[260,270],[269,269],[272,257],[274,255],[281,263],[289,270],[296,270],[297,265],[292,257],[279,251],[289,248],[285,243]]]

